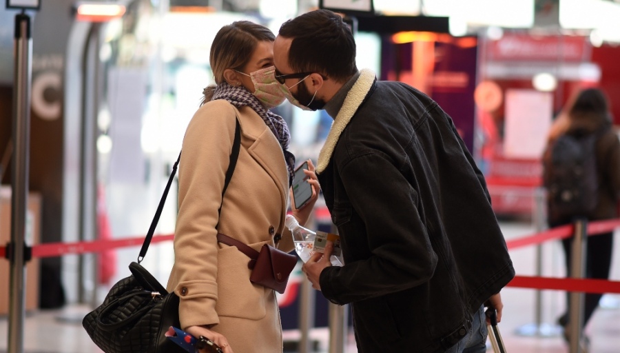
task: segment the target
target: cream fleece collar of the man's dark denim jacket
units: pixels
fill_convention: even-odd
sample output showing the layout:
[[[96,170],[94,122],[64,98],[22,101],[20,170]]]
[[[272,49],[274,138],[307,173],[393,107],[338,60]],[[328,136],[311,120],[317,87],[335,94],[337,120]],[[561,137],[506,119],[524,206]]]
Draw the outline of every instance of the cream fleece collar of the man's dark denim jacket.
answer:
[[[342,134],[344,128],[347,127],[355,112],[358,111],[360,104],[362,104],[362,101],[366,98],[366,94],[368,94],[374,81],[374,72],[368,69],[360,71],[358,81],[355,81],[355,84],[353,84],[353,87],[351,87],[351,90],[347,93],[347,98],[344,99],[342,108],[340,108],[338,115],[333,119],[333,124],[327,135],[327,140],[325,140],[325,144],[323,148],[321,148],[316,166],[316,172],[318,174],[321,174],[323,170],[327,168],[333,149],[336,143],[338,143],[338,139],[340,139],[340,134]]]

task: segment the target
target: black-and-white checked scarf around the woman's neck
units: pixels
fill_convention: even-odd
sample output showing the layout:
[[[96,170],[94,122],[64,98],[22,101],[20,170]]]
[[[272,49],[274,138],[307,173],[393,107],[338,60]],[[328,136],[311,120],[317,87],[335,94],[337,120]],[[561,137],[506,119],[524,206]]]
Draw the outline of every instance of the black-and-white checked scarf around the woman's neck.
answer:
[[[293,176],[295,175],[295,156],[288,150],[291,134],[289,133],[289,127],[286,121],[284,121],[280,115],[265,109],[260,101],[258,101],[258,98],[243,86],[230,85],[224,81],[217,86],[211,100],[215,99],[224,99],[237,108],[248,105],[262,118],[262,121],[265,121],[265,125],[269,127],[269,130],[271,130],[278,141],[280,141],[280,147],[282,147],[282,152],[284,152],[287,169],[289,170],[289,185],[292,185]]]

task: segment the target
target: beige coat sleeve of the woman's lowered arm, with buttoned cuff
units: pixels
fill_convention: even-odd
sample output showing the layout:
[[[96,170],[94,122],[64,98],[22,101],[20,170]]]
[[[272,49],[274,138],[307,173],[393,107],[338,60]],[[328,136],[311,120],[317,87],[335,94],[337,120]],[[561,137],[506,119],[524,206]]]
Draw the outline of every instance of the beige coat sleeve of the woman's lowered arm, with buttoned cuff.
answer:
[[[179,164],[174,256],[183,329],[219,323],[216,225],[235,133],[235,111],[225,101],[203,105],[190,121]]]

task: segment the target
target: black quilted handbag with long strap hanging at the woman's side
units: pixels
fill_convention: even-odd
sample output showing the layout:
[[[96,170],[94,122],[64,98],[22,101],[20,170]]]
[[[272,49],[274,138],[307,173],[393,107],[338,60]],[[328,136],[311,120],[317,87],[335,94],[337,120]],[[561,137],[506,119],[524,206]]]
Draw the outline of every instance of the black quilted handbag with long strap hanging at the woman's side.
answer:
[[[240,125],[239,121],[236,121],[235,140],[222,195],[234,172],[240,145]],[[140,265],[153,238],[179,161],[180,154],[142,244],[138,262],[130,263],[132,274],[114,284],[103,303],[86,314],[82,320],[82,325],[92,341],[105,353],[187,352],[165,336],[170,326],[180,326],[178,296],[174,292],[168,293],[165,287]]]

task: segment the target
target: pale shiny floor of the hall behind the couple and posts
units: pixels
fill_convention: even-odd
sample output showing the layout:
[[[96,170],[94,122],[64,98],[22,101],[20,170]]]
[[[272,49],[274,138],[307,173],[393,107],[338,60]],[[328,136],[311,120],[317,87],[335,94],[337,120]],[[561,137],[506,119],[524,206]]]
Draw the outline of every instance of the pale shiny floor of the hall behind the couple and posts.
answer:
[[[533,234],[534,228],[526,221],[502,221],[502,230],[506,239],[514,239],[527,234]],[[614,263],[620,261],[620,246],[616,242],[614,248]],[[564,276],[563,258],[559,244],[548,243],[542,246],[543,275]],[[522,248],[511,252],[517,274],[535,274],[535,248]],[[612,279],[620,279],[618,265],[612,266]],[[557,327],[551,325],[564,307],[564,294],[557,291],[544,291],[541,298],[541,327],[547,328],[555,335],[550,337],[522,335],[518,332],[533,324],[535,318],[534,290],[521,288],[506,288],[502,292],[504,304],[504,319],[499,325],[504,342],[511,353],[564,353],[568,347],[557,332]],[[617,353],[620,352],[620,296],[617,294],[603,296],[602,307],[593,316],[590,325],[586,327],[586,334],[590,336],[590,353]],[[24,353],[94,353],[101,352],[83,330],[81,318],[88,308],[69,305],[63,310],[32,312],[25,318]],[[320,350],[327,352],[326,328],[311,332],[311,337],[319,341]],[[285,332],[285,337],[293,339],[296,332]],[[6,352],[8,340],[8,319],[0,318],[0,353]],[[355,343],[349,334],[345,352],[354,353]],[[21,353],[21,352],[20,352]],[[398,352],[400,353],[400,352]]]

